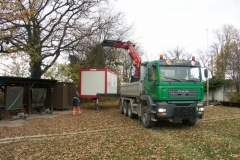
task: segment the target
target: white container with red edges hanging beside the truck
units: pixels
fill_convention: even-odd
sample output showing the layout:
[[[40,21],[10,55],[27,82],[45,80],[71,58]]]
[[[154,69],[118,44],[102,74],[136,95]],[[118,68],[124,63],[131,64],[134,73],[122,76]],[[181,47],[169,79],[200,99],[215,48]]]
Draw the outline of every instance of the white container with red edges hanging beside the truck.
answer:
[[[117,74],[107,68],[80,68],[80,98],[97,98],[97,93],[117,93]]]

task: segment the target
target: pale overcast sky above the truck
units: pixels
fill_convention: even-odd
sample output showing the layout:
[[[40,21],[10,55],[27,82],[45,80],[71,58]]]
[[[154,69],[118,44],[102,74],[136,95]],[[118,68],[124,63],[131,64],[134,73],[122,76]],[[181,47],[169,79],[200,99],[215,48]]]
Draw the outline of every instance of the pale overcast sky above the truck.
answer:
[[[127,22],[134,23],[133,39],[152,59],[176,46],[194,55],[216,41],[213,31],[224,24],[240,28],[240,0],[117,0],[115,4]]]

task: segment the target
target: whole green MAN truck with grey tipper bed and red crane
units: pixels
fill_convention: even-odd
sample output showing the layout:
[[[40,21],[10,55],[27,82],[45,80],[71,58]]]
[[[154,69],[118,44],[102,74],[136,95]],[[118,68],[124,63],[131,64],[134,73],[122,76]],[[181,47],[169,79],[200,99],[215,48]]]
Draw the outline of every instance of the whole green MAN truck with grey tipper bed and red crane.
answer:
[[[130,83],[120,87],[120,113],[138,116],[145,128],[156,121],[194,125],[204,115],[203,77],[201,65],[191,60],[164,59],[141,62],[131,42],[104,40],[103,46],[123,48],[135,62]],[[204,69],[205,77],[208,76]]]

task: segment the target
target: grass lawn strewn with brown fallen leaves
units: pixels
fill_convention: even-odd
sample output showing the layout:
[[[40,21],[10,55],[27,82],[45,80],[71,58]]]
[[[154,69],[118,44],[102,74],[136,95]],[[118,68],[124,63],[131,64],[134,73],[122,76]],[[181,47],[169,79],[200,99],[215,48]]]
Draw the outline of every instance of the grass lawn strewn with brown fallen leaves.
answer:
[[[53,113],[54,114],[54,113]],[[82,115],[31,118],[0,127],[0,159],[240,159],[240,108],[205,107],[194,126],[165,121],[146,129],[117,102],[82,104]]]

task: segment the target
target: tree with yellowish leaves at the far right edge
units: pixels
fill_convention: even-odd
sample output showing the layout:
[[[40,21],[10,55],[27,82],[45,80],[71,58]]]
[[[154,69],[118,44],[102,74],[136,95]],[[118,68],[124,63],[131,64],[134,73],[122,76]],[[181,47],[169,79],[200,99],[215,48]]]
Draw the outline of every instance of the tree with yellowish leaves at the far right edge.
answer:
[[[211,45],[211,56],[213,57],[211,64],[214,78],[217,81],[225,82],[223,92],[226,92],[225,86],[228,86],[228,89],[232,90],[232,94],[229,94],[229,96],[237,95],[236,93],[240,91],[239,31],[232,25],[223,25],[221,29],[215,31],[215,35],[217,41]]]

